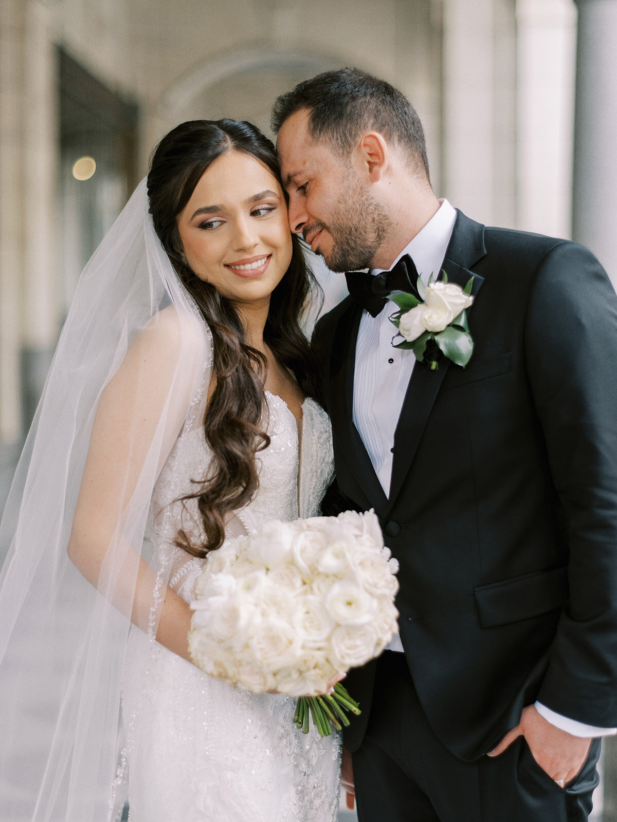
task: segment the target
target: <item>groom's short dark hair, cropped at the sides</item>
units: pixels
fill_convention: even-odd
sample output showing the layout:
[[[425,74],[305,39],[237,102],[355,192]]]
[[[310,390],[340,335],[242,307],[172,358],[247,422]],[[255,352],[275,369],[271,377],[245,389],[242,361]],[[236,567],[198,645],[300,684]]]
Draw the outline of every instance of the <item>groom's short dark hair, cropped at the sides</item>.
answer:
[[[363,132],[379,132],[406,150],[415,167],[429,177],[420,118],[406,96],[385,80],[359,68],[340,68],[304,80],[276,98],[272,131],[278,133],[300,109],[308,110],[308,133],[315,142],[327,141],[347,156]]]

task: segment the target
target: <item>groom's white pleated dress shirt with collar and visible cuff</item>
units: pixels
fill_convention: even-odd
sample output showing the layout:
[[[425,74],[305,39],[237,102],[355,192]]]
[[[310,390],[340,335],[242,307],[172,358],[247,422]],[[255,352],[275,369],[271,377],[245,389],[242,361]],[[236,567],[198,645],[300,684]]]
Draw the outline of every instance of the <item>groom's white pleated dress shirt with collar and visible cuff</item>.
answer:
[[[437,279],[457,219],[456,210],[447,200],[439,202],[434,217],[392,263],[392,266],[396,265],[403,255],[409,254],[425,285],[431,274]],[[379,274],[381,270],[373,269],[371,274]],[[386,306],[378,316],[362,312],[355,344],[353,421],[386,496],[390,495],[394,432],[415,364],[413,351],[392,346],[392,337],[397,330],[389,317],[396,310],[392,304],[392,310]],[[401,637],[393,636],[387,648],[402,652]],[[536,709],[552,725],[575,737],[603,737],[617,732],[614,727],[594,727],[576,722],[540,702],[536,702]]]

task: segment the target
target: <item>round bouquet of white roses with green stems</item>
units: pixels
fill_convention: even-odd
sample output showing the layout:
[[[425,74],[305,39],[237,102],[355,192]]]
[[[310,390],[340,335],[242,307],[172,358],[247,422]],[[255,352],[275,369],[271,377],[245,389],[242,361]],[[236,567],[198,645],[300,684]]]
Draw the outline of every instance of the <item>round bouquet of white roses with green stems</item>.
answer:
[[[322,736],[360,713],[336,672],[378,656],[397,630],[397,560],[383,545],[377,516],[272,520],[208,555],[191,603],[193,662],[254,693],[299,696],[294,721],[308,714]]]

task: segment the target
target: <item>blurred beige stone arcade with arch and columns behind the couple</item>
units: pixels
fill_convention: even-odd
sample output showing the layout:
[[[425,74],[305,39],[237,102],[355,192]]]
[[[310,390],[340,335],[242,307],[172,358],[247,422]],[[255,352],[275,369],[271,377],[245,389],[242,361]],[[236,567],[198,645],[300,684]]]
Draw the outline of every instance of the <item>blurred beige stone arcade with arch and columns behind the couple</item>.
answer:
[[[171,127],[269,132],[281,91],[363,68],[415,105],[438,196],[583,242],[615,284],[616,38],[617,0],[0,0],[0,510],[81,268]]]

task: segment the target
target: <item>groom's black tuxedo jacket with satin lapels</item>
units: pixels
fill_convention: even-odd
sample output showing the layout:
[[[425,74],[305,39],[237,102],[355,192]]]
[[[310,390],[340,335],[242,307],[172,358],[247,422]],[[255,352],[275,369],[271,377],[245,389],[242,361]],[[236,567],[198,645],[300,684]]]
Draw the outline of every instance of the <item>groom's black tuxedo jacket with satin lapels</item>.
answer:
[[[536,699],[617,726],[617,297],[586,248],[461,212],[443,270],[474,280],[474,353],[465,369],[415,363],[389,497],[352,421],[358,303],[323,316],[314,344],[344,507],[377,513],[420,703],[473,760]],[[374,665],[347,678],[364,709],[350,750]]]

